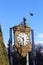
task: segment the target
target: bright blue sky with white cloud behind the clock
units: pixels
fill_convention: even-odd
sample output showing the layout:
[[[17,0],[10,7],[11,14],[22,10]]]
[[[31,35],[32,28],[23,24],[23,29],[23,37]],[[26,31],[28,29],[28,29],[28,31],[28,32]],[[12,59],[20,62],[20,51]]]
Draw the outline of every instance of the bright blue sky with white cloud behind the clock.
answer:
[[[29,12],[34,15],[31,17]],[[23,17],[34,30],[34,41],[43,43],[43,0],[0,0],[0,24],[4,42],[9,39],[9,28],[18,25]]]

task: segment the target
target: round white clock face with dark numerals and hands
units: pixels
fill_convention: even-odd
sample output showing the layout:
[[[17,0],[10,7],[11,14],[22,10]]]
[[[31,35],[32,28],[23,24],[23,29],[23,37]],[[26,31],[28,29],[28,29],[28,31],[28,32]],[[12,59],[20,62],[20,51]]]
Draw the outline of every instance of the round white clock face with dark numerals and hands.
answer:
[[[22,45],[22,46],[25,46],[29,43],[29,37],[26,33],[20,33],[18,36],[17,36],[17,42]]]

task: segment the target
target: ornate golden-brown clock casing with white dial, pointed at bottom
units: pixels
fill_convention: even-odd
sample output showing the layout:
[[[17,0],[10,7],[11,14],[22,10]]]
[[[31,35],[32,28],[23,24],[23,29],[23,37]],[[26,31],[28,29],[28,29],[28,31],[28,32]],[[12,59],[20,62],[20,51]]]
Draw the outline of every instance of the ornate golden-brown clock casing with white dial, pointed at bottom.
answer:
[[[25,57],[31,51],[30,27],[20,24],[13,28],[14,30],[14,47],[22,57]]]

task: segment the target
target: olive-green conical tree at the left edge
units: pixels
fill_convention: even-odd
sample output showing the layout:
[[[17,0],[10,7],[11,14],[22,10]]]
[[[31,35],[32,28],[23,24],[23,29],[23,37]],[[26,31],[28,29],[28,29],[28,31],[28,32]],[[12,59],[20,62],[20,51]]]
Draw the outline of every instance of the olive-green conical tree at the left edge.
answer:
[[[1,26],[0,26],[0,65],[10,65],[9,58],[6,53],[6,47],[3,42]]]

